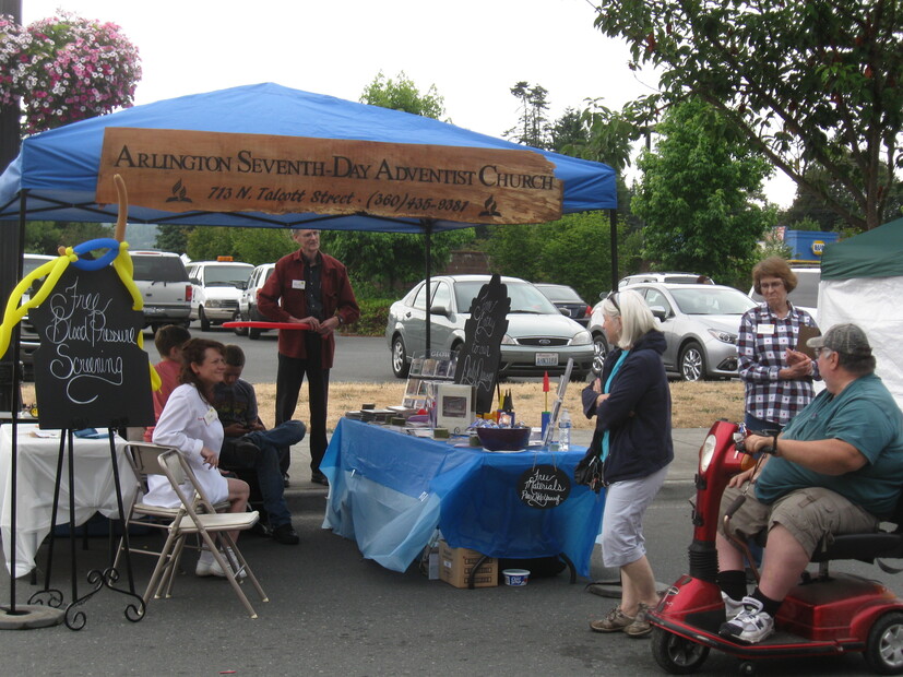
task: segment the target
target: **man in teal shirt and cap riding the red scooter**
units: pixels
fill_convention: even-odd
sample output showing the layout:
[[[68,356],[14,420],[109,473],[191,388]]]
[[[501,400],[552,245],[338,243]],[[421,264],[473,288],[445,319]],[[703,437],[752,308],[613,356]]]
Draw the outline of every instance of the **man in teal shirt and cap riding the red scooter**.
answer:
[[[875,376],[863,330],[839,324],[808,345],[817,352],[827,389],[780,436],[746,438],[748,452],[773,458],[734,477],[722,498],[717,583],[727,621],[720,634],[729,640],[757,643],[771,634],[782,601],[818,544],[832,535],[876,531],[892,514],[903,486],[903,414]],[[725,512],[750,486],[755,492],[736,509],[725,533]],[[761,579],[747,595],[736,543],[764,530]]]

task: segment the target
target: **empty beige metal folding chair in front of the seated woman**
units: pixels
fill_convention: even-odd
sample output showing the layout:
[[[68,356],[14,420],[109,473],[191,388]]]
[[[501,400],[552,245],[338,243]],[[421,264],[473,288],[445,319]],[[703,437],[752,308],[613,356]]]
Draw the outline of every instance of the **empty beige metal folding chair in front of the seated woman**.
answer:
[[[178,449],[144,443],[130,444],[130,448],[135,463],[143,474],[164,475],[169,480],[173,490],[181,502],[181,506],[175,509],[176,514],[166,527],[168,532],[166,543],[159,551],[156,567],[151,574],[151,581],[144,593],[145,605],[152,592],[157,593],[155,597],[159,597],[159,589],[163,587],[164,583],[166,584],[167,596],[169,596],[175,568],[181,557],[185,538],[188,535],[197,535],[203,544],[206,545],[213,558],[223,569],[226,579],[229,581],[236,595],[238,595],[239,601],[245,605],[248,614],[251,618],[257,618],[257,613],[241,590],[241,585],[236,579],[236,573],[243,572],[247,575],[247,579],[251,582],[251,585],[257,590],[263,602],[269,602],[270,599],[266,597],[266,593],[263,592],[245,556],[238,549],[238,546],[236,546],[228,532],[247,531],[251,528],[251,526],[258,522],[260,518],[259,513],[257,511],[217,513],[198,483],[198,478],[194,476],[191,466]],[[183,487],[186,483],[191,487],[190,495]],[[217,547],[219,543],[231,549],[237,562],[237,571],[233,571],[231,562],[227,561],[226,555]]]

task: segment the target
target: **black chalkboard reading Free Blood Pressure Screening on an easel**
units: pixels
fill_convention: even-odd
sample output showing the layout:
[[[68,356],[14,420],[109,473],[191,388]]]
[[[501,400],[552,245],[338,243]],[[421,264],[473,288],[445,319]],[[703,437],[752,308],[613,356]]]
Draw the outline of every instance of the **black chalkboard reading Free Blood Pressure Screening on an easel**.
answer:
[[[143,313],[107,265],[70,264],[28,317],[40,336],[35,395],[41,428],[154,425],[147,354],[135,343]]]

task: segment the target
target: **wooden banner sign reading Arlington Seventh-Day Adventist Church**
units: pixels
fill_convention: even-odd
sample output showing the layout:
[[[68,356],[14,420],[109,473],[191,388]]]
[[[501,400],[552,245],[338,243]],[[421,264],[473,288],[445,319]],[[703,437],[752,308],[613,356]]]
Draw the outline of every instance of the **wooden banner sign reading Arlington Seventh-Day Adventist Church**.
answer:
[[[534,151],[108,127],[99,204],[525,224],[561,216],[561,181]]]

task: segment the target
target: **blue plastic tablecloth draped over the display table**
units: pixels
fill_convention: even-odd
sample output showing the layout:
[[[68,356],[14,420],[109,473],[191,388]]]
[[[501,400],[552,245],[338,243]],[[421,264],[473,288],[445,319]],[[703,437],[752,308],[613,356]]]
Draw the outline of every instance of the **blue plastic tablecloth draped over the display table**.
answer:
[[[331,486],[323,527],[394,571],[407,569],[438,526],[451,547],[491,557],[563,553],[585,577],[604,492],[572,484],[562,504],[538,510],[516,491],[518,478],[535,464],[572,478],[583,453],[489,453],[343,418],[320,464]]]

